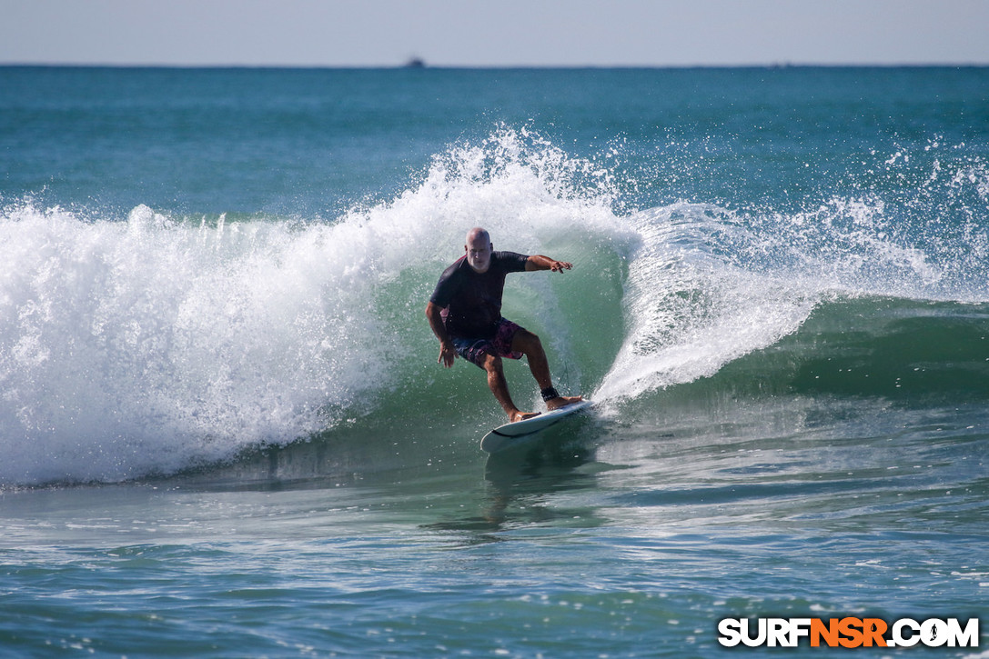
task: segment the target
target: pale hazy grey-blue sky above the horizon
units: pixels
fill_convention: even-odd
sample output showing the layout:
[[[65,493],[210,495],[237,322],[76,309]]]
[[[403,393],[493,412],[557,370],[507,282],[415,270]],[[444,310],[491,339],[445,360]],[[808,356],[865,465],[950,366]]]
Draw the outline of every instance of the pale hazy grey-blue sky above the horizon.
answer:
[[[989,0],[0,0],[0,63],[989,64]]]

